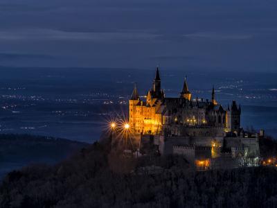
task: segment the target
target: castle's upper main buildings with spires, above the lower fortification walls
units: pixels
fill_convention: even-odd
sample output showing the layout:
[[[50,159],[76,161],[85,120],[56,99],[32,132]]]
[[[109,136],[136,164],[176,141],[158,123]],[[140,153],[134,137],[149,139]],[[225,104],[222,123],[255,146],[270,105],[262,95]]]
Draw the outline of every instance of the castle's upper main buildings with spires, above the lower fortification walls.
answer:
[[[166,98],[164,89],[161,89],[158,67],[153,85],[154,88],[148,91],[146,102],[141,101],[134,86],[129,100],[129,124],[134,133],[161,135],[165,131],[172,134],[174,130],[175,135],[179,136],[222,137],[226,132],[240,135],[240,107],[237,107],[235,101],[231,109],[229,105],[224,109],[217,104],[214,87],[211,101],[204,101],[203,98],[192,101],[185,77],[179,98]],[[193,127],[194,130],[191,130]]]

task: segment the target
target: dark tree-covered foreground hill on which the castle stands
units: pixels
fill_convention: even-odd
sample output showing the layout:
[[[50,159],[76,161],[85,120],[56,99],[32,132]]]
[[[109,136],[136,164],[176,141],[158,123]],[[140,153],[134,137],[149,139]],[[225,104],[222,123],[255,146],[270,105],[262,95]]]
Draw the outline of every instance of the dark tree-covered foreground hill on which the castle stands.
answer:
[[[139,171],[159,166],[161,171]],[[152,166],[153,168],[153,166]],[[276,207],[276,166],[193,171],[181,156],[139,159],[101,141],[54,166],[33,164],[0,184],[0,207]]]

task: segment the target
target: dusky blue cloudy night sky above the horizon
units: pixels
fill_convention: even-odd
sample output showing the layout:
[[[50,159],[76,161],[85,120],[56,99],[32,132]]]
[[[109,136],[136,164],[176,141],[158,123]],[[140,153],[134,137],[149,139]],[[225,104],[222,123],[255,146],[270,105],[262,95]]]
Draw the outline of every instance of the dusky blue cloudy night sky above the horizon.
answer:
[[[7,67],[277,72],[277,1],[1,0],[0,46]]]

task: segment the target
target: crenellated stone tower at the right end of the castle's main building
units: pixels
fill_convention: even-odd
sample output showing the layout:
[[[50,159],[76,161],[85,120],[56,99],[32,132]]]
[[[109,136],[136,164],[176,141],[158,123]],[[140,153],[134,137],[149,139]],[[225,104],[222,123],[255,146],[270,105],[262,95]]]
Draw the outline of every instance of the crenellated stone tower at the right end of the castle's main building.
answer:
[[[240,107],[238,108],[235,101],[232,101],[231,110],[229,109],[229,104],[228,104],[228,109],[226,110],[226,112],[227,112],[227,128],[229,129],[229,132],[231,132],[232,134],[235,133],[235,135],[239,136],[240,135],[240,114],[241,114]]]

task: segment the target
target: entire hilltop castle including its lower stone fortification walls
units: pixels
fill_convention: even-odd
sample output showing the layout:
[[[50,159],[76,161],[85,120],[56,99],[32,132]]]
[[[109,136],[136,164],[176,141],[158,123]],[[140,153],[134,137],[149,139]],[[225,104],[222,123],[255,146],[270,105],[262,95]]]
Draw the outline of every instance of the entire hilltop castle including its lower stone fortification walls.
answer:
[[[214,87],[210,101],[192,101],[186,77],[179,98],[166,98],[158,67],[153,85],[146,102],[139,98],[136,85],[129,100],[129,125],[140,148],[145,143],[154,144],[161,155],[183,155],[200,169],[260,162],[259,141],[264,131],[256,135],[244,132],[240,127],[241,108],[235,101],[224,109],[215,101]]]

